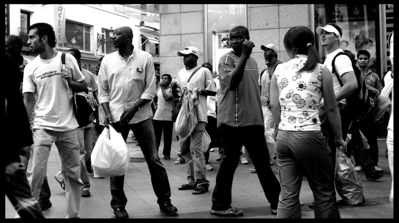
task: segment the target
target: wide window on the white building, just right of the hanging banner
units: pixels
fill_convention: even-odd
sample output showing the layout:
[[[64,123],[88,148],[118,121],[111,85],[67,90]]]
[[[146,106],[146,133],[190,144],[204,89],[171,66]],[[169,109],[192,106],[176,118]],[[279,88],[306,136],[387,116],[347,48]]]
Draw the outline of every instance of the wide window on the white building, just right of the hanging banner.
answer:
[[[65,21],[65,37],[67,42],[60,43],[58,46],[90,51],[90,35],[90,26]]]

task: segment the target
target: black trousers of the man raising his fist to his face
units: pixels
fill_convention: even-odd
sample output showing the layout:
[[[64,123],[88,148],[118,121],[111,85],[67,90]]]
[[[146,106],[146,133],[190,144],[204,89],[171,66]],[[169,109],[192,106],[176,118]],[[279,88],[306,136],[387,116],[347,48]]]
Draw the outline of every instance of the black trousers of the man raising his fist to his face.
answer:
[[[222,124],[218,130],[224,156],[216,175],[216,185],[212,194],[212,209],[225,210],[230,207],[231,187],[242,145],[245,146],[253,162],[267,201],[273,206],[277,205],[280,184],[270,167],[263,125],[228,127]]]

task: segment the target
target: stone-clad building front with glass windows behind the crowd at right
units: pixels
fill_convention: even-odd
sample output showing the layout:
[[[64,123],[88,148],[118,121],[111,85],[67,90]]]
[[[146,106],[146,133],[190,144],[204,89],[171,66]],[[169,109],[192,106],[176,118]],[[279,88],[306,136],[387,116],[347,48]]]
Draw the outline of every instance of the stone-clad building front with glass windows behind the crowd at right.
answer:
[[[160,4],[160,63],[161,74],[171,74],[175,79],[184,68],[183,58],[177,52],[186,46],[200,51],[198,64],[209,62],[217,72],[218,60],[231,50],[225,38],[231,28],[246,26],[255,48],[251,56],[263,70],[263,51],[260,46],[274,44],[278,59],[289,57],[284,48],[285,33],[291,27],[303,25],[315,33],[318,26],[333,22],[342,28],[343,49],[355,56],[361,49],[371,53],[370,69],[381,80],[391,69],[387,39],[393,31],[393,10],[386,4]],[[325,51],[316,34],[315,46],[322,61]],[[387,120],[388,121],[388,120]],[[386,136],[386,123],[380,135]]]

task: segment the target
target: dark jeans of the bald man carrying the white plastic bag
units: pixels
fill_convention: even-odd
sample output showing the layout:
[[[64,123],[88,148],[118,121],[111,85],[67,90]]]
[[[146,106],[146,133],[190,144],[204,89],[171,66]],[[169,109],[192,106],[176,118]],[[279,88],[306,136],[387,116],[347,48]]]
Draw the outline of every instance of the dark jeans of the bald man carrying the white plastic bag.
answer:
[[[112,126],[116,131],[122,134],[125,141],[129,135],[129,130],[133,131],[137,142],[140,144],[141,151],[143,151],[144,158],[147,161],[151,175],[151,183],[155,195],[158,198],[157,203],[163,205],[164,203],[171,202],[171,187],[169,185],[168,174],[158,156],[158,147],[151,118],[135,124],[122,126],[117,123],[112,123]],[[128,202],[125,192],[123,191],[124,179],[125,175],[110,177],[112,196],[111,207],[114,210],[117,208],[125,208]]]

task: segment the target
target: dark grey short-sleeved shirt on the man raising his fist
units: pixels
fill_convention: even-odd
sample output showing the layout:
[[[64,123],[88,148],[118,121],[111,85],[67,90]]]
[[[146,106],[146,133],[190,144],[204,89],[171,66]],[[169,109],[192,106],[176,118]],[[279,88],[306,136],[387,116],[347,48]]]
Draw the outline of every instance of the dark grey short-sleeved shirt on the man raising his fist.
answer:
[[[231,73],[239,58],[234,51],[230,51],[219,60],[220,95],[217,108],[217,127],[221,124],[229,127],[264,125],[260,103],[258,66],[255,59],[249,57],[246,61],[244,75],[237,88],[231,91],[228,89]]]

